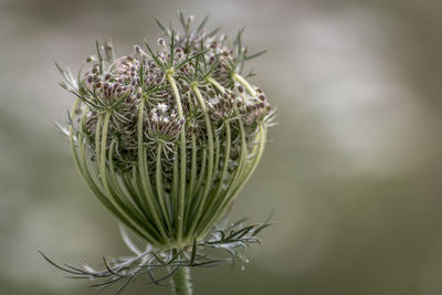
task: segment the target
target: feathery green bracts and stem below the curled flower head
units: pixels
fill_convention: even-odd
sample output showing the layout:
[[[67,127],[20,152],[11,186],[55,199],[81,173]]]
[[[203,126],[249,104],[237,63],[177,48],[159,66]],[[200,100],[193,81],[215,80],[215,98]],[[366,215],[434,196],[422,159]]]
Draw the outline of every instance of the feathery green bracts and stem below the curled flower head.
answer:
[[[160,285],[166,280],[173,277],[172,284],[176,293],[187,294],[186,292],[191,288],[189,285],[190,268],[213,267],[222,263],[230,263],[234,267],[236,261],[240,261],[241,264],[249,262],[243,255],[243,251],[250,245],[260,243],[256,234],[271,223],[244,225],[245,220],[240,220],[223,229],[214,228],[206,241],[197,242],[194,240],[185,247],[171,250],[155,250],[148,245],[143,251],[135,245],[122,228],[123,239],[134,255],[119,259],[103,257],[103,270],[94,270],[86,263],[80,267],[71,264],[60,265],[42,252],[40,254],[72,277],[97,281],[91,287],[98,287],[99,291],[119,284],[118,294],[130,282],[141,275],[147,275],[150,283],[155,285]]]

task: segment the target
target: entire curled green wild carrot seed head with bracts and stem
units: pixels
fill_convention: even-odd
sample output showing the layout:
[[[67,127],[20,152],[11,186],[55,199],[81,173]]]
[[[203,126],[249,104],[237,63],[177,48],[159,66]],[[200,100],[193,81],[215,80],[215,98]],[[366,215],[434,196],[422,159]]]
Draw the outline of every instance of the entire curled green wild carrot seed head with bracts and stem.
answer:
[[[76,97],[63,128],[74,162],[123,229],[147,244],[140,250],[124,230],[134,256],[105,259],[102,271],[44,256],[77,277],[102,280],[95,286],[120,282],[123,288],[147,274],[155,284],[171,277],[176,294],[191,294],[191,266],[246,262],[241,250],[259,243],[269,225],[227,222],[275,114],[248,81],[253,73],[243,74],[263,52],[249,54],[242,31],[231,40],[207,31],[207,18],[197,27],[192,17],[179,19],[180,30],[157,20],[157,50],[145,40],[116,57],[110,41],[96,42],[77,75],[57,65],[61,86]]]

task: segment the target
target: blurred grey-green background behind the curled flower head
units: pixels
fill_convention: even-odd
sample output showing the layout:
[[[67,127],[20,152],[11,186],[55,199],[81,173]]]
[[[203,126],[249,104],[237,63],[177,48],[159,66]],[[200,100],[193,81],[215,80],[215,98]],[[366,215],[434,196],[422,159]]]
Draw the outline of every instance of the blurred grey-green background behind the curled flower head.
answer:
[[[96,38],[131,52],[178,8],[246,27],[280,109],[233,214],[276,224],[245,271],[196,270],[196,294],[442,294],[440,0],[0,0],[0,294],[96,294],[38,250],[128,254],[53,124],[73,102],[53,61],[76,70]],[[168,294],[147,282],[124,294]]]

